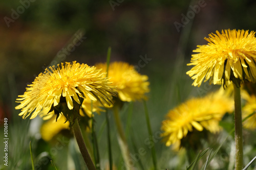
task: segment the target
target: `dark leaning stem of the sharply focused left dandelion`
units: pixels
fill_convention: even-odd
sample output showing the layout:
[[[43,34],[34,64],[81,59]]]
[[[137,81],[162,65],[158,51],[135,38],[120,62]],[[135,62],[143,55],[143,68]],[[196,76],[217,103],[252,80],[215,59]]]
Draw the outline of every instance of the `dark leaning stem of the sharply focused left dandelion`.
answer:
[[[84,162],[86,162],[86,165],[87,165],[88,169],[96,170],[96,168],[93,164],[93,161],[92,161],[92,159],[91,159],[91,157],[90,157],[90,155],[87,151],[86,144],[84,143],[84,140],[82,138],[81,129],[79,127],[77,119],[75,120],[75,123],[72,126],[72,129],[73,129],[73,132],[74,132],[79,150],[82,154]]]

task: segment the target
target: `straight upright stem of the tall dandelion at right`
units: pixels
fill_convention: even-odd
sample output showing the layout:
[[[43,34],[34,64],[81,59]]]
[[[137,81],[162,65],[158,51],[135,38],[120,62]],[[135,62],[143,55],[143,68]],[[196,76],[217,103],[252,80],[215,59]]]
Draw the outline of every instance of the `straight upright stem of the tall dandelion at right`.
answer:
[[[235,168],[243,168],[243,131],[242,131],[242,111],[240,88],[234,87],[234,143],[236,146]]]

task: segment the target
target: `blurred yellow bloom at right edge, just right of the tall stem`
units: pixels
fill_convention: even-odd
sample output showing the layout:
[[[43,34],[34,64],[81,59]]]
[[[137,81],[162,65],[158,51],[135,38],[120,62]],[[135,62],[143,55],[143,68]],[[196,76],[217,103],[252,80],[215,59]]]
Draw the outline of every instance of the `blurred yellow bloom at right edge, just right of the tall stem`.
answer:
[[[250,114],[255,113],[247,118],[243,122],[243,125],[247,129],[254,130],[256,129],[256,96],[254,94],[249,95],[248,92],[244,90],[241,92],[241,95],[246,101],[245,106],[242,108],[242,117],[245,118]]]

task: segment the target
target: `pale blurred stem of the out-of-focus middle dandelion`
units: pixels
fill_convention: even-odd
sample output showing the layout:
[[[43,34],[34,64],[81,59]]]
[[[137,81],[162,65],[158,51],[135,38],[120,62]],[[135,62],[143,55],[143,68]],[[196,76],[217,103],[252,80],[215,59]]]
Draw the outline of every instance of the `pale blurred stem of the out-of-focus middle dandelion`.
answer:
[[[124,134],[124,131],[122,128],[118,107],[119,107],[118,105],[114,105],[114,107],[113,107],[114,119],[115,119],[115,123],[117,126],[117,132],[118,132],[118,143],[119,143],[119,146],[121,149],[121,153],[123,156],[123,160],[125,162],[126,169],[133,169],[132,167],[129,166],[129,160],[131,160],[130,152],[129,152],[128,144],[127,144],[125,134]]]

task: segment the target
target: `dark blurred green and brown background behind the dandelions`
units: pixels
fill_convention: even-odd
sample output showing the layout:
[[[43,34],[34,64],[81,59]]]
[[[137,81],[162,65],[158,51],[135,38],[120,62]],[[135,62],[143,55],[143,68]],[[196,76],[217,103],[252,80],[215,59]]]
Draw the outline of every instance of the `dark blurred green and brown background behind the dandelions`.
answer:
[[[192,11],[190,6],[194,7],[199,2],[204,7],[200,7],[195,16],[190,16],[178,32],[174,23],[182,23],[182,14],[187,15],[187,11]],[[185,74],[190,69],[186,63],[196,45],[206,44],[203,38],[216,30],[256,30],[256,2],[252,0],[1,0],[0,11],[0,137],[3,138],[3,119],[7,117],[10,169],[30,169],[30,140],[34,141],[34,157],[43,151],[49,152],[54,145],[41,141],[38,131],[31,132],[34,120],[23,120],[17,116],[19,110],[14,110],[17,105],[15,99],[25,92],[27,84],[33,82],[35,76],[56,60],[57,54],[73,41],[77,31],[83,32],[83,42],[58,61],[76,60],[89,65],[105,62],[109,46],[112,47],[111,61],[138,65],[141,57],[148,58],[139,72],[147,75],[151,83],[147,105],[154,134],[160,132],[161,121],[169,109],[191,96],[204,95],[197,87],[191,86],[193,81]],[[209,91],[214,87],[200,88]],[[145,143],[148,135],[142,106],[140,102],[134,104],[131,131],[137,148],[147,151],[143,158],[147,169],[152,163],[145,161],[150,160],[151,155]],[[125,123],[125,109],[123,112],[121,116]],[[96,115],[95,119],[100,131],[104,116]],[[116,129],[111,121],[114,162],[120,166]],[[36,127],[36,120],[34,122]],[[99,136],[101,159],[108,159],[105,131]],[[156,149],[160,168],[175,166],[170,161],[175,157],[170,148],[159,140]],[[59,151],[62,154],[50,155],[59,169],[67,169],[65,164],[61,165],[61,156],[66,150],[67,146]]]

